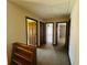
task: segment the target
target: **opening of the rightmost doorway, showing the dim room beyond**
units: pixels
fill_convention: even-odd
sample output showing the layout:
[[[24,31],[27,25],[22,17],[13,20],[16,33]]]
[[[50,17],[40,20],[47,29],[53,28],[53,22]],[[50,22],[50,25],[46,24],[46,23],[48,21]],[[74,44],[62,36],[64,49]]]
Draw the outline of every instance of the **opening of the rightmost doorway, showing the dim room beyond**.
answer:
[[[57,44],[65,45],[66,23],[57,23]]]

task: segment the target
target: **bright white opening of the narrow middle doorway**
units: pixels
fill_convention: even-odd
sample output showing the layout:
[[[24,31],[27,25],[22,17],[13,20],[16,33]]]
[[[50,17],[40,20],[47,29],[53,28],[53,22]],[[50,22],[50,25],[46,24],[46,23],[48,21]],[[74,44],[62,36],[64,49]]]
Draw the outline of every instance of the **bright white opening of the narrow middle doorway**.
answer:
[[[46,43],[53,44],[53,23],[46,23]]]

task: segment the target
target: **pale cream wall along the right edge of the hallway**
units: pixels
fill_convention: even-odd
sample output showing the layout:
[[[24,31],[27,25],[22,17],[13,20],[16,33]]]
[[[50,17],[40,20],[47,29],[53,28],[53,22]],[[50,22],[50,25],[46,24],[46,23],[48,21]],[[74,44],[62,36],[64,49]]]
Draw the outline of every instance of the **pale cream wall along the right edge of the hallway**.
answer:
[[[69,57],[72,65],[79,65],[79,4],[78,0],[70,14]]]

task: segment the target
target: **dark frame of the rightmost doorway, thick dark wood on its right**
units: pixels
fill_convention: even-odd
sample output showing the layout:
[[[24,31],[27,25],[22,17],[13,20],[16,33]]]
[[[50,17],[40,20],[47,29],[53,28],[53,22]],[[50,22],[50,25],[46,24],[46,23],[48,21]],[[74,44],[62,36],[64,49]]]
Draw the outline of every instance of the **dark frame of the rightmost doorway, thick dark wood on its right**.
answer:
[[[56,44],[57,44],[57,23],[66,23],[66,39],[65,39],[65,48],[66,52],[69,51],[69,34],[70,34],[70,20],[63,21],[63,22],[56,22]]]

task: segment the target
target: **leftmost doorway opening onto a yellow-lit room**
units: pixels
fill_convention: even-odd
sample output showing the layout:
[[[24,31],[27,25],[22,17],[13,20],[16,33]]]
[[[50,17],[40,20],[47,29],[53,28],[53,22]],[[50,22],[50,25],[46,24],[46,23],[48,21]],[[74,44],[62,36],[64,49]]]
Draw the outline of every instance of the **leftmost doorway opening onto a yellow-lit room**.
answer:
[[[26,44],[37,44],[37,21],[31,18],[26,18]]]

